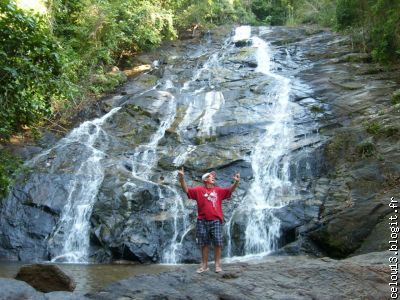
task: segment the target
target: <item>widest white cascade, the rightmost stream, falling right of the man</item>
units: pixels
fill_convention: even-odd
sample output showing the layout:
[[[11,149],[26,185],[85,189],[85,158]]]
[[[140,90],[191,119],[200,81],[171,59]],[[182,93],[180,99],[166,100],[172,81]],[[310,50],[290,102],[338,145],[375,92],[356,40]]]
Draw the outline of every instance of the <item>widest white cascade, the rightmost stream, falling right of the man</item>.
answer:
[[[243,37],[243,32],[247,37]],[[256,48],[257,69],[270,78],[271,84],[265,94],[266,101],[273,103],[268,112],[269,123],[259,142],[255,145],[250,160],[253,182],[242,204],[233,213],[245,218],[244,254],[268,254],[277,249],[280,237],[280,220],[274,210],[285,204],[285,198],[293,195],[294,188],[289,180],[289,146],[294,130],[291,111],[288,108],[290,80],[271,71],[271,54],[268,44],[262,39],[250,37],[250,30],[239,32],[241,39],[250,39]],[[231,236],[232,219],[227,222]],[[232,255],[231,239],[228,255]]]

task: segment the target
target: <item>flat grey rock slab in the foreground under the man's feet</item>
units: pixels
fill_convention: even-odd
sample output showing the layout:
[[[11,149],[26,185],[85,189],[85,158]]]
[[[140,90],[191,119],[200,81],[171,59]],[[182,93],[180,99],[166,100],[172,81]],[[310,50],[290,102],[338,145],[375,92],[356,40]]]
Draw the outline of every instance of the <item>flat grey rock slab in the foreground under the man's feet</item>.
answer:
[[[336,261],[270,257],[196,274],[196,266],[113,283],[91,299],[388,299],[387,252]]]

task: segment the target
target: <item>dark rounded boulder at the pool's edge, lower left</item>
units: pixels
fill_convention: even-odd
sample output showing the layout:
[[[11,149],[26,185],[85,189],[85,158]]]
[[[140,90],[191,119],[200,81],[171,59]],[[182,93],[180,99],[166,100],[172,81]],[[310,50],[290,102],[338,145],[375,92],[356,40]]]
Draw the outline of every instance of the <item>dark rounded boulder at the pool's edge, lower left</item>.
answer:
[[[15,279],[25,281],[36,290],[48,293],[54,291],[72,292],[76,283],[55,265],[34,264],[23,266]]]

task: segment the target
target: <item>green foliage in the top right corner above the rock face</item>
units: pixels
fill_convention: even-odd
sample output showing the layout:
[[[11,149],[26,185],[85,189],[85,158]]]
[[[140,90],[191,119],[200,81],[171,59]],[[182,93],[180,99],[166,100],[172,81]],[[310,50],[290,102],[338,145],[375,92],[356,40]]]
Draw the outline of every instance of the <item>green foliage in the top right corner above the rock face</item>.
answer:
[[[300,0],[291,24],[316,23],[344,31],[376,62],[400,59],[399,0]]]

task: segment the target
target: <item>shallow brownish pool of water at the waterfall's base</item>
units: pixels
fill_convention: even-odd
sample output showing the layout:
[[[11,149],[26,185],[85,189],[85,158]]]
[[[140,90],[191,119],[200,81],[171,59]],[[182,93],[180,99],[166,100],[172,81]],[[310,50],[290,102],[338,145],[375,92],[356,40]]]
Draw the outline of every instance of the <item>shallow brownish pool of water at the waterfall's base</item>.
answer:
[[[34,262],[33,262],[34,263]],[[14,278],[23,265],[33,263],[0,261],[0,277]],[[178,265],[141,264],[55,264],[76,282],[75,291],[96,292],[108,284],[142,274],[158,274]]]

